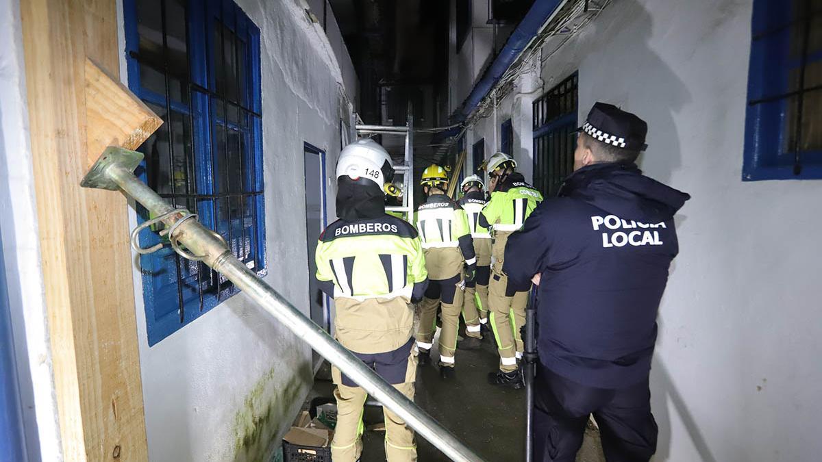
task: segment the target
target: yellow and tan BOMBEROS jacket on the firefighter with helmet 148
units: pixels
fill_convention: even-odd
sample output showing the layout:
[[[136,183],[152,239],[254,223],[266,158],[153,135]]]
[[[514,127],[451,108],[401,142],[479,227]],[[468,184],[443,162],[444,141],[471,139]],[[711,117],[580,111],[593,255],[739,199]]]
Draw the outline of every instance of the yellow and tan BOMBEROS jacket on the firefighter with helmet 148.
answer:
[[[409,302],[427,282],[417,230],[390,215],[339,219],[317,243],[316,279],[333,284],[340,344],[357,353],[398,349],[413,335]]]

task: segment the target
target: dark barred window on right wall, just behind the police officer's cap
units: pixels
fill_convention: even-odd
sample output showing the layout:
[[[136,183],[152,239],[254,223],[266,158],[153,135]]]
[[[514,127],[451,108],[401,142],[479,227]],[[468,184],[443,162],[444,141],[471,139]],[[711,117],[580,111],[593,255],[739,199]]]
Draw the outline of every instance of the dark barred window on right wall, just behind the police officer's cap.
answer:
[[[553,196],[574,171],[576,72],[533,102],[533,186]]]

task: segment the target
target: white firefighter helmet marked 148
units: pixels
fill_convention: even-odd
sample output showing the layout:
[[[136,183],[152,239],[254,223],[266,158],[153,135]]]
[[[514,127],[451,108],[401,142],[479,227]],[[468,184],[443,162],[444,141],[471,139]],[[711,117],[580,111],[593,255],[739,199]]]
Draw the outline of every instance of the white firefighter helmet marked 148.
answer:
[[[394,163],[388,151],[371,138],[361,138],[345,146],[337,159],[337,178],[368,178],[383,189],[394,178]]]

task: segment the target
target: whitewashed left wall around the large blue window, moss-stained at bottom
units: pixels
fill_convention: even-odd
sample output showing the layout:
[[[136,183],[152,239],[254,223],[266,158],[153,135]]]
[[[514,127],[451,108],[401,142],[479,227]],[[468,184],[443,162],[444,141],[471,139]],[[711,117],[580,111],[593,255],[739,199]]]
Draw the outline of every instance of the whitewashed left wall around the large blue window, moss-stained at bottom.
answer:
[[[238,4],[261,30],[265,280],[307,313],[303,142],[326,150],[333,219],[330,176],[340,113],[349,110],[339,96],[344,72],[306,4]],[[242,294],[149,348],[137,268],[134,275],[150,459],[265,460],[312,383],[311,349]]]

